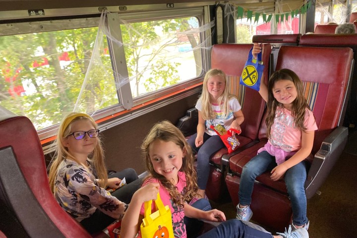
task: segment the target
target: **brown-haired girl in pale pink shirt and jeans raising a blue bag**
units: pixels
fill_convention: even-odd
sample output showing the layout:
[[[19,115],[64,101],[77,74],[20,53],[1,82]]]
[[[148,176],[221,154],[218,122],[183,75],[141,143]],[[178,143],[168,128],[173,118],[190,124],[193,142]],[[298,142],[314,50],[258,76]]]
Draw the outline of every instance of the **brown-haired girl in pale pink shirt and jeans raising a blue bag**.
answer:
[[[260,45],[254,43],[253,56],[260,52]],[[243,168],[237,218],[245,221],[251,218],[249,204],[254,180],[265,171],[271,171],[270,178],[274,181],[285,177],[294,226],[307,230],[304,159],[312,150],[314,131],[317,129],[315,118],[304,98],[301,80],[290,69],[276,71],[270,77],[268,86],[262,80],[259,93],[267,102],[269,140]]]

